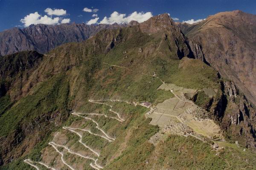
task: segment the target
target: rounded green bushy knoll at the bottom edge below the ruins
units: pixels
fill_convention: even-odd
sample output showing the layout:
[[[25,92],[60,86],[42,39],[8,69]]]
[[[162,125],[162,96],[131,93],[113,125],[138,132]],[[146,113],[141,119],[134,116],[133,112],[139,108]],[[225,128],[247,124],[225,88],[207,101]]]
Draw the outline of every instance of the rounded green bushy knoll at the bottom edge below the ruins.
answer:
[[[194,137],[170,136],[169,139],[160,144],[149,159],[149,165],[157,169],[175,169],[175,170],[219,170],[227,165],[225,161],[215,156],[215,151],[207,143],[203,143]],[[151,158],[152,158],[151,157]]]

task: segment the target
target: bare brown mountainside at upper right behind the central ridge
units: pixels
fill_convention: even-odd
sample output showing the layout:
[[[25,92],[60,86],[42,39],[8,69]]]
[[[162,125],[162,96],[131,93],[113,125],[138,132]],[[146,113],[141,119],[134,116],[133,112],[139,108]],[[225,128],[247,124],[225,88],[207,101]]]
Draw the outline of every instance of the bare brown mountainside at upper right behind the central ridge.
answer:
[[[221,12],[183,29],[195,57],[235,82],[256,105],[256,15]]]

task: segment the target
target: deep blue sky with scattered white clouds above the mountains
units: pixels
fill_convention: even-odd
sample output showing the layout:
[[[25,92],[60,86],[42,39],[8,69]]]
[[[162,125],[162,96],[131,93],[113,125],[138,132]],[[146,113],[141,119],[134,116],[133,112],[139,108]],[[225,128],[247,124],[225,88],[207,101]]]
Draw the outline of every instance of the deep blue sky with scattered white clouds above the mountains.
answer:
[[[163,13],[195,23],[237,9],[256,14],[256,0],[0,0],[0,31],[38,23],[140,23]]]

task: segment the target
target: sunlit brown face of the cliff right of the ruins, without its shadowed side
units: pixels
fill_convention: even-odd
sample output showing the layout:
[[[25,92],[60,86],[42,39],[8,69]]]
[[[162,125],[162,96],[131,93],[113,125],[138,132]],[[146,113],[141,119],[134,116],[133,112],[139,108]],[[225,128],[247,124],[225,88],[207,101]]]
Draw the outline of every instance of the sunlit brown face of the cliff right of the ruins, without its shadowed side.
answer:
[[[224,82],[224,91],[228,104],[221,121],[222,128],[232,133],[230,139],[236,138],[239,143],[255,148],[256,109],[239,94],[233,82]]]

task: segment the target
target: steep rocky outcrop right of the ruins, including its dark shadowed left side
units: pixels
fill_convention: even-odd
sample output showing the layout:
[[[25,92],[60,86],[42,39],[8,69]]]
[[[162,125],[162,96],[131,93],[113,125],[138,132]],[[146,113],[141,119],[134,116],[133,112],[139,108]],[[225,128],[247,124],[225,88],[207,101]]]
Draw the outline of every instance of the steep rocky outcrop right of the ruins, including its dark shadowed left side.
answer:
[[[222,91],[213,97],[207,110],[219,122],[225,137],[245,147],[256,147],[256,108],[238,91],[234,82],[222,82]]]

